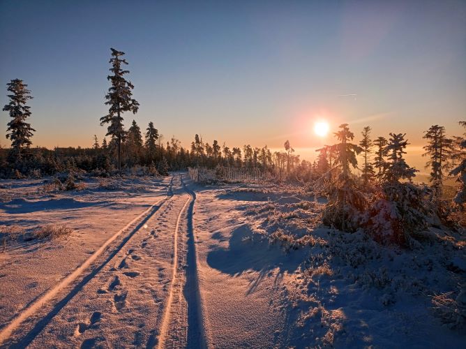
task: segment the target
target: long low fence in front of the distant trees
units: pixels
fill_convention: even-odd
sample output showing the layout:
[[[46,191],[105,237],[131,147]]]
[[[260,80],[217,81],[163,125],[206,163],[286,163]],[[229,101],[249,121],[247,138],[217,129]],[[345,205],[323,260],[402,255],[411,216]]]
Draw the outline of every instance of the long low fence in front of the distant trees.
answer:
[[[227,168],[217,166],[209,168],[188,168],[189,177],[193,181],[220,179],[223,181],[262,181],[273,179],[274,175],[260,168]]]

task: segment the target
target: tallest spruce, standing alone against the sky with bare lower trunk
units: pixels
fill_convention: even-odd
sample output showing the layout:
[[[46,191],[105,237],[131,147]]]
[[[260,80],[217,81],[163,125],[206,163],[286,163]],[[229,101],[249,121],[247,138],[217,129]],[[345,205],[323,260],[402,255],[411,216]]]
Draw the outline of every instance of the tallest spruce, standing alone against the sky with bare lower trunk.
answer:
[[[105,117],[100,118],[100,125],[110,124],[107,128],[107,135],[111,135],[112,138],[117,142],[117,168],[121,170],[121,156],[122,154],[122,142],[125,135],[123,128],[123,117],[121,114],[123,112],[133,112],[136,114],[139,109],[139,103],[134,98],[133,84],[127,81],[123,75],[128,74],[129,70],[123,70],[121,64],[128,64],[126,59],[121,59],[120,57],[125,54],[125,52],[117,51],[111,48],[112,58],[110,59],[110,64],[112,68],[109,70],[112,72],[112,75],[107,76],[107,80],[110,80],[112,86],[108,89],[108,94],[105,95],[106,105],[110,105],[108,114]]]

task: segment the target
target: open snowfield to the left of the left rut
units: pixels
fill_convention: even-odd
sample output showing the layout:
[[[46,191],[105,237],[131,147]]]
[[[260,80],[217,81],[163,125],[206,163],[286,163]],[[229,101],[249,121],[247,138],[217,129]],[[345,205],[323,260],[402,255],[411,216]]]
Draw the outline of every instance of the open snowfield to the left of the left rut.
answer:
[[[115,232],[167,193],[167,179],[82,178],[84,190],[44,191],[53,179],[0,181],[0,328]],[[108,188],[110,184],[116,186]],[[45,225],[70,235],[33,239]]]

